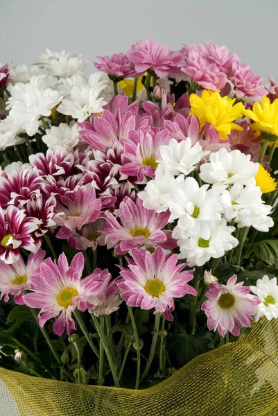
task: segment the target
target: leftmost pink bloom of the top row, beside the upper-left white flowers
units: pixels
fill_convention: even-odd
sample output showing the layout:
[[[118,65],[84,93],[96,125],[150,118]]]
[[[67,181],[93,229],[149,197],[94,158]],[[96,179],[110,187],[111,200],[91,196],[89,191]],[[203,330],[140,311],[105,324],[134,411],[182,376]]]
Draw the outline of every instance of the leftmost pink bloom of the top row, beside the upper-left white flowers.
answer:
[[[128,58],[122,53],[114,53],[110,56],[97,56],[98,60],[101,62],[94,62],[94,66],[98,71],[106,72],[108,76],[114,76],[116,78],[133,78],[134,76],[139,76],[134,69],[134,64],[132,64]]]

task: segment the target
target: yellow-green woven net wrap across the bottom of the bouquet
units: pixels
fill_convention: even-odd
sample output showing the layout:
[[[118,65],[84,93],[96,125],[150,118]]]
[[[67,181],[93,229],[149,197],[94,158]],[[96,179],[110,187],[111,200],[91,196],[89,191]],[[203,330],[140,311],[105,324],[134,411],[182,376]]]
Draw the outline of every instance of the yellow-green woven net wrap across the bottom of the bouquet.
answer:
[[[278,415],[278,320],[202,354],[146,390],[76,385],[0,368],[1,416]]]

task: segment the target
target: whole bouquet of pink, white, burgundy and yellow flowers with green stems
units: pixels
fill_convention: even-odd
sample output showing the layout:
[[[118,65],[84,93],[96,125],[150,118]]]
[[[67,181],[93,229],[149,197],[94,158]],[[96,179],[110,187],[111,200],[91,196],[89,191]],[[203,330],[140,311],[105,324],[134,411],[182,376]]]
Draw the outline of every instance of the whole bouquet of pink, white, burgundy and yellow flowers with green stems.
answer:
[[[274,80],[213,42],[39,58],[0,64],[0,365],[146,388],[276,319]]]

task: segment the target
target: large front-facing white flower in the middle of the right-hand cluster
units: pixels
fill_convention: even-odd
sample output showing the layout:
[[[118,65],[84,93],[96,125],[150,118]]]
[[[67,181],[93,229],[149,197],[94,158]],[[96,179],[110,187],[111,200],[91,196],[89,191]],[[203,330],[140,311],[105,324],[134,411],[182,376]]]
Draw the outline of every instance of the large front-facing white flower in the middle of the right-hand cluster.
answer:
[[[193,177],[186,177],[173,191],[173,198],[168,201],[171,211],[170,222],[177,221],[177,226],[184,230],[183,238],[199,232],[207,221],[221,219],[221,206],[218,189],[209,189],[205,184],[199,187]]]

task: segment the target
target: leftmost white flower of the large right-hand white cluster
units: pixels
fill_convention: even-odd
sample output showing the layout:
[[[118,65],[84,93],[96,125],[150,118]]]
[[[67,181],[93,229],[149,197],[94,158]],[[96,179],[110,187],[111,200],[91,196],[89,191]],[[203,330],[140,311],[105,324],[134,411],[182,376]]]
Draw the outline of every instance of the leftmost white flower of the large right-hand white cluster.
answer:
[[[168,202],[173,200],[173,193],[177,184],[184,181],[184,175],[176,178],[171,173],[162,173],[159,166],[155,172],[155,179],[150,180],[144,189],[139,192],[138,197],[143,200],[147,209],[155,209],[158,213],[168,209]]]

